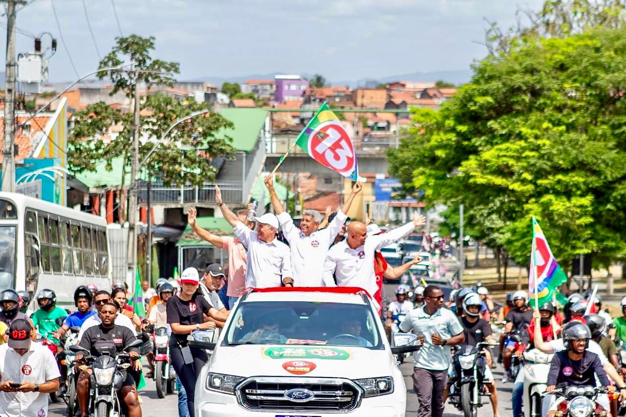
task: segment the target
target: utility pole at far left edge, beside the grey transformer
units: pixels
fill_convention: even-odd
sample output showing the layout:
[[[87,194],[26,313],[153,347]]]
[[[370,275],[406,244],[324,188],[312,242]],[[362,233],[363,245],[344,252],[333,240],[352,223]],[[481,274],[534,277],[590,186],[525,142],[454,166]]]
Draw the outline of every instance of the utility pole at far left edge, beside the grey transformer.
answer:
[[[18,0],[8,0],[7,3],[2,190],[15,192],[15,20]]]

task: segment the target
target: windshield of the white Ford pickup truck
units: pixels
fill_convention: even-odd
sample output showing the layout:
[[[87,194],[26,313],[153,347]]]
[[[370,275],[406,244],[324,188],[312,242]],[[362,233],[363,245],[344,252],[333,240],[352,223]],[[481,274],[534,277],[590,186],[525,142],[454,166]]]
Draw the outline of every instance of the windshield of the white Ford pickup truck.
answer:
[[[225,341],[384,349],[368,306],[327,302],[242,302]]]

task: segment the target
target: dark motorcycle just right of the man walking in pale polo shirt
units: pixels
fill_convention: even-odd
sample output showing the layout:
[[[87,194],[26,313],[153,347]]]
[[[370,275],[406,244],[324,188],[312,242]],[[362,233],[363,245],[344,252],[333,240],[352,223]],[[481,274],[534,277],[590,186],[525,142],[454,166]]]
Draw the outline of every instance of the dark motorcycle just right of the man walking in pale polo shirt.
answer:
[[[452,362],[453,382],[450,386],[449,401],[465,417],[476,417],[478,408],[487,402],[483,396],[490,396],[485,389],[486,358],[483,348],[490,346],[488,342],[478,342],[476,346],[469,344],[454,347]]]

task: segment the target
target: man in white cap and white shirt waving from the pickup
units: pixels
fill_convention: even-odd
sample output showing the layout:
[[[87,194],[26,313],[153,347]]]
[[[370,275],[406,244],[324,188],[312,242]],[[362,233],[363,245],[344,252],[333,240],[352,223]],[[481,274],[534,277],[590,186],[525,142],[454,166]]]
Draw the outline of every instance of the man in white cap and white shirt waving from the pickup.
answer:
[[[293,286],[289,246],[276,239],[278,218],[270,213],[255,217],[257,230],[250,230],[226,207],[222,201],[222,192],[217,186],[215,202],[222,209],[224,219],[233,227],[235,235],[248,248],[245,286],[255,288],[280,287],[282,284]]]

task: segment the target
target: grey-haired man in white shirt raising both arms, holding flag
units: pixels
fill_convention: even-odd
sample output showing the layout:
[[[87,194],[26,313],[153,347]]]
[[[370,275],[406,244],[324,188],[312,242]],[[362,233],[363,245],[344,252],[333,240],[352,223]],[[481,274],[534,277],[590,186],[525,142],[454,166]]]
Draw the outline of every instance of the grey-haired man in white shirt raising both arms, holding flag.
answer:
[[[346,199],[343,207],[328,224],[326,229],[318,230],[322,215],[316,210],[304,210],[300,228],[295,227],[294,220],[282,208],[282,203],[274,191],[274,180],[265,177],[265,187],[270,193],[272,207],[278,216],[282,232],[291,249],[291,264],[294,271],[294,285],[297,287],[323,287],[324,261],[329,247],[341,231],[347,219],[352,200],[361,192],[362,185],[357,182]]]

